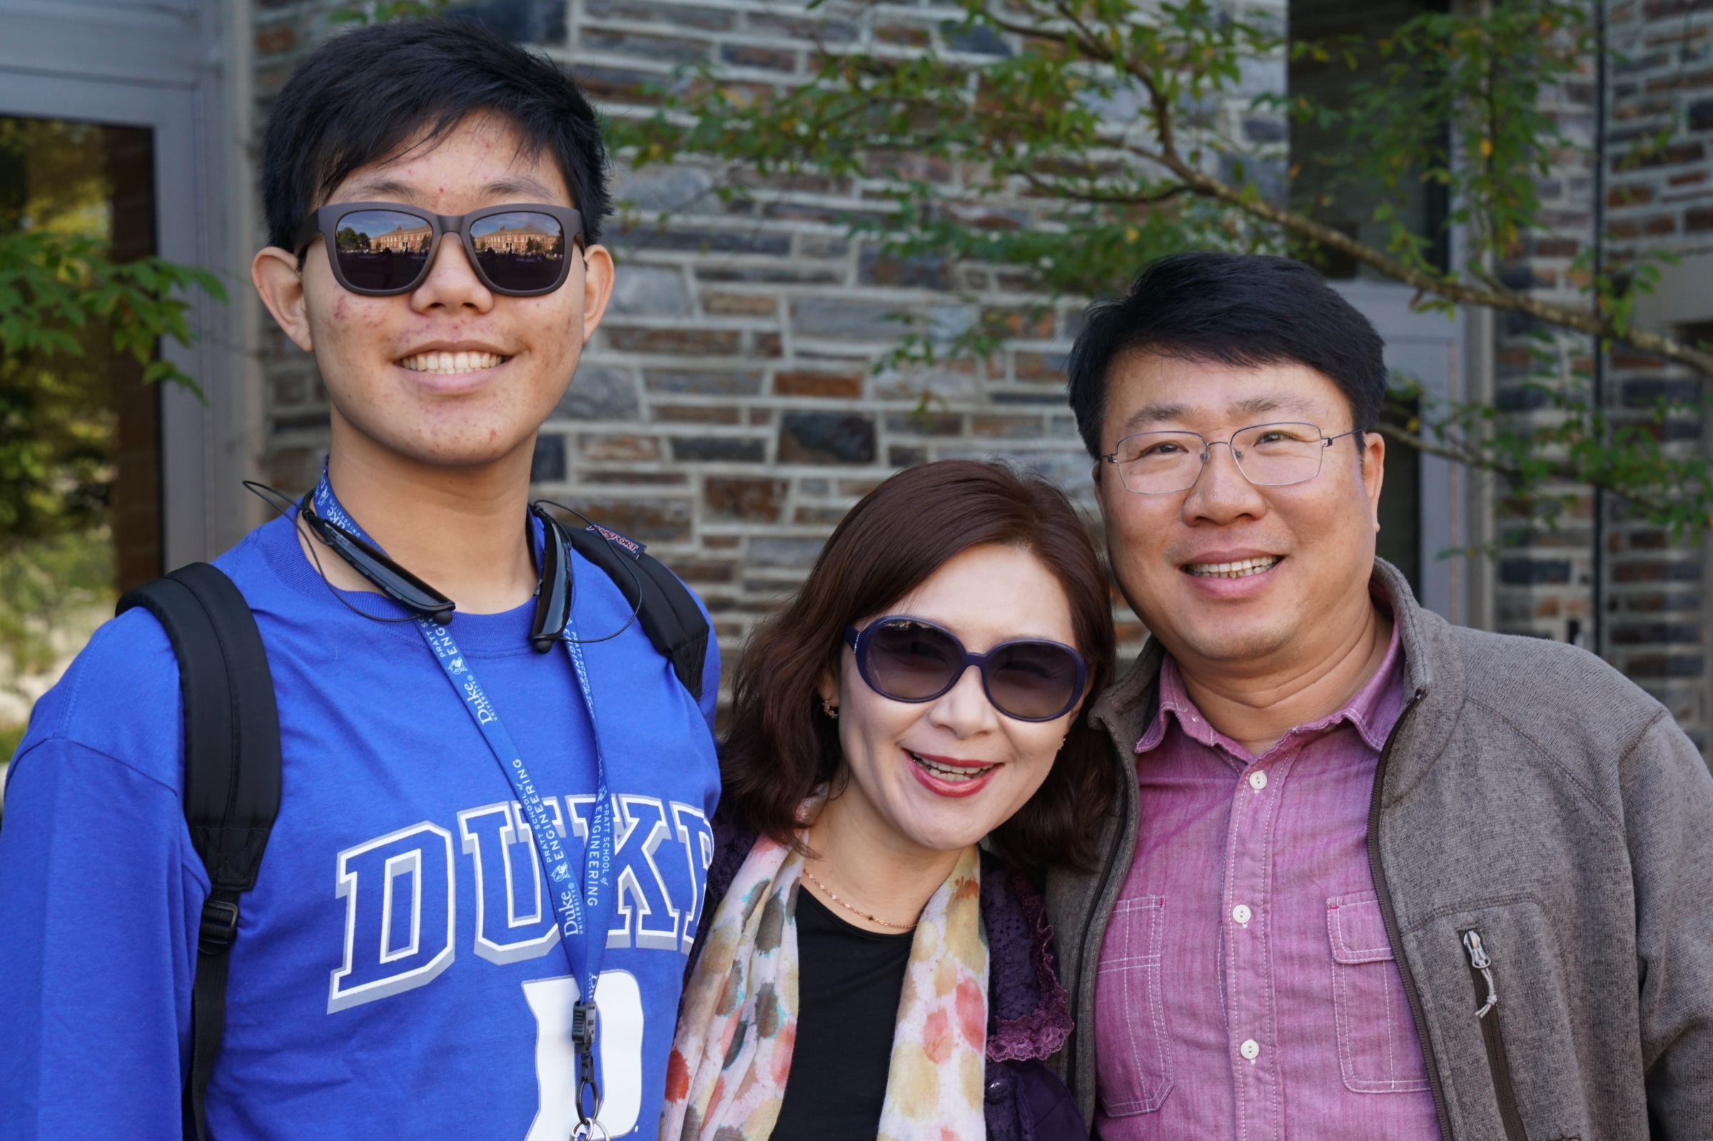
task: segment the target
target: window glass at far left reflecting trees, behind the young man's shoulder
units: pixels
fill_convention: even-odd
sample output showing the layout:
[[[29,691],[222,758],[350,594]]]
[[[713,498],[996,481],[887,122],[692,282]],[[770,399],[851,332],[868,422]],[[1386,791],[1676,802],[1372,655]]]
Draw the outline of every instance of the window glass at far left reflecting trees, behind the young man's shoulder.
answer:
[[[152,254],[152,151],[140,127],[0,116],[0,233]],[[159,392],[104,329],[79,341],[81,356],[0,365],[0,761],[116,594],[161,574]]]

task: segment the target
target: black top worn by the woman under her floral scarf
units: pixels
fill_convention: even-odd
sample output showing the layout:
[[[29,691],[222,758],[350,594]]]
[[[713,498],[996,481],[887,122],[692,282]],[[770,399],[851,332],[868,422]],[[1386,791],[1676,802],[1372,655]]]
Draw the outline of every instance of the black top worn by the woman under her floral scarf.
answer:
[[[874,1141],[915,932],[851,927],[797,893],[797,1045],[773,1141]]]

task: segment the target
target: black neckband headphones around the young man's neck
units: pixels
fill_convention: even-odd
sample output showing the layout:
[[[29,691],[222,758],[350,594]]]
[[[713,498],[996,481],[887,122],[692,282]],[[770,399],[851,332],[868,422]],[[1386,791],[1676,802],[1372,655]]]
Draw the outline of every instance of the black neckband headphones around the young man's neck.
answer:
[[[289,504],[291,500],[288,500],[284,495],[281,495],[271,487],[252,483],[248,480],[245,480],[245,487],[255,492],[262,500],[266,500],[269,507],[272,507],[279,514],[286,514],[286,511],[279,504],[272,502],[272,497],[278,497]],[[572,598],[570,552],[569,552],[570,536],[565,535],[564,524],[560,524],[558,519],[548,514],[546,509],[550,505],[558,507],[560,511],[570,511],[570,507],[565,507],[564,504],[550,504],[548,500],[536,500],[534,504],[529,504],[529,516],[541,521],[541,531],[546,536],[546,541],[540,555],[536,553],[534,535],[531,533],[533,528],[529,528],[528,523],[524,524],[526,540],[529,547],[529,559],[534,560],[538,576],[536,613],[534,613],[534,622],[531,622],[529,625],[529,646],[538,654],[545,654],[546,651],[550,651],[553,648],[553,642],[557,641],[605,642],[613,637],[618,637],[620,634],[630,629],[632,622],[637,620],[637,610],[641,610],[642,605],[641,601],[642,588],[641,582],[637,582],[634,591],[637,603],[630,608],[630,618],[622,627],[601,637],[565,639],[565,627],[570,624],[570,598]],[[298,511],[298,519],[308,524],[310,531],[315,533],[315,538],[319,538],[324,545],[331,547],[332,552],[346,562],[346,565],[349,565],[353,570],[368,579],[368,582],[377,591],[380,591],[397,605],[404,606],[409,612],[409,618],[377,618],[375,615],[363,613],[361,610],[356,610],[356,606],[351,606],[351,603],[346,601],[337,589],[334,589],[332,582],[327,582],[327,589],[331,589],[334,598],[344,603],[346,608],[373,622],[403,622],[415,618],[432,618],[439,625],[451,625],[452,612],[457,610],[457,603],[454,603],[451,598],[447,598],[435,588],[428,586],[427,582],[423,582],[420,577],[416,577],[399,564],[387,559],[387,555],[377,550],[372,543],[365,543],[361,538],[351,535],[344,528],[329,523],[327,519],[322,519],[319,514],[315,514],[315,504],[310,495],[305,495],[296,504],[296,511]],[[581,517],[581,514],[576,511],[570,511],[570,514]],[[315,555],[313,545],[310,547],[310,555],[315,557],[315,569],[322,570],[320,557]],[[629,562],[627,560],[620,562],[625,565],[625,570],[630,572],[630,577],[636,579],[636,570],[630,569]],[[322,570],[322,581],[324,582],[327,581],[325,570]]]

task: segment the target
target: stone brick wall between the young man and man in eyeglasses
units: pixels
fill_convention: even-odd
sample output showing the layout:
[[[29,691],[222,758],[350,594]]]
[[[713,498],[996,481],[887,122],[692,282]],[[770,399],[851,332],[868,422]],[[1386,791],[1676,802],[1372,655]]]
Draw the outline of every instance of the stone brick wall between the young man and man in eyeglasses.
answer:
[[[259,118],[301,55],[332,29],[336,3],[257,9]],[[1259,7],[1278,14],[1283,5]],[[608,115],[648,113],[649,84],[711,62],[755,82],[803,75],[815,39],[923,45],[954,10],[815,9],[766,0],[493,0],[466,7],[562,60]],[[961,41],[959,50],[1006,50]],[[1254,84],[1281,84],[1283,65]],[[1244,93],[1227,108],[1242,130]],[[1247,118],[1254,118],[1252,113]],[[930,178],[949,170],[923,168]],[[714,192],[726,178],[735,197]],[[680,164],[617,171],[622,218],[613,307],[570,392],[543,428],[538,492],[649,545],[707,601],[735,656],[757,617],[802,579],[833,524],[892,471],[994,456],[1043,471],[1093,519],[1089,459],[1064,399],[1077,305],[1040,310],[1006,272],[899,264],[846,235],[875,209],[872,187],[798,180],[750,185]],[[1018,224],[1024,202],[995,224]],[[898,314],[954,332],[973,320],[1012,332],[983,361],[877,368]],[[307,487],[325,449],[313,361],[271,334],[266,468]],[[1119,603],[1129,649],[1141,627]]]

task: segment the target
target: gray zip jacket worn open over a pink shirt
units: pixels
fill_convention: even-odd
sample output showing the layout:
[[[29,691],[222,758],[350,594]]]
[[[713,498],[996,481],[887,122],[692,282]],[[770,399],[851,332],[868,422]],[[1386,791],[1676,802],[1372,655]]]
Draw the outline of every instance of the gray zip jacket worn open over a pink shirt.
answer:
[[[1369,865],[1441,1136],[1708,1141],[1713,776],[1701,754],[1598,658],[1454,627],[1386,562],[1374,586],[1394,600],[1410,697],[1374,776]],[[1122,773],[1101,867],[1047,881],[1076,1016],[1055,1064],[1084,1120],[1095,968],[1136,853],[1134,749],[1161,658],[1149,641],[1089,713]]]

